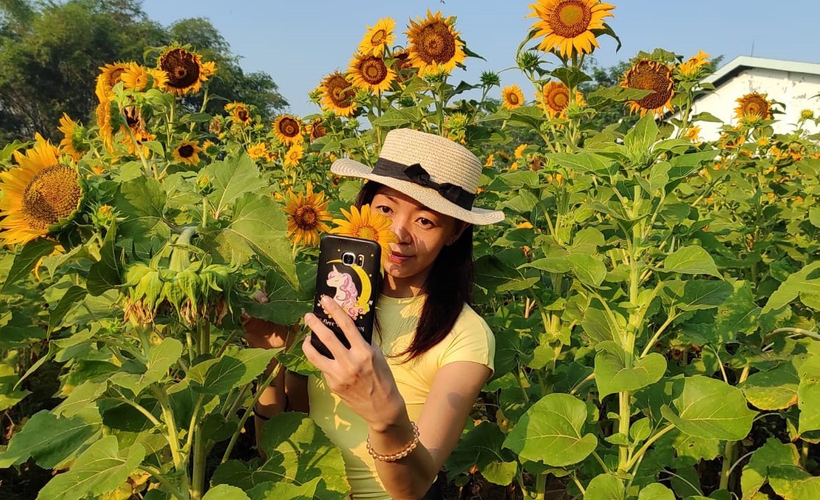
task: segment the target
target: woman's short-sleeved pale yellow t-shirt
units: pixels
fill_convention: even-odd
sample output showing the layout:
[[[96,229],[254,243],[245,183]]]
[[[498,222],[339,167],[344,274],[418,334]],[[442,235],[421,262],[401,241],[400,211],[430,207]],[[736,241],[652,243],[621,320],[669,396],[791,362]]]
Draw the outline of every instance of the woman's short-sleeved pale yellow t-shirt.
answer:
[[[453,330],[422,356],[406,363],[401,362],[403,357],[389,357],[403,352],[410,345],[425,297],[381,295],[376,306],[379,330],[373,334],[373,345],[385,353],[413,421],[418,421],[421,416],[421,407],[442,366],[453,361],[475,361],[493,370],[495,353],[495,338],[490,327],[465,304]],[[324,377],[311,376],[307,393],[310,416],[342,451],[353,498],[389,499],[376,472],[376,464],[367,454],[367,422],[330,392]]]

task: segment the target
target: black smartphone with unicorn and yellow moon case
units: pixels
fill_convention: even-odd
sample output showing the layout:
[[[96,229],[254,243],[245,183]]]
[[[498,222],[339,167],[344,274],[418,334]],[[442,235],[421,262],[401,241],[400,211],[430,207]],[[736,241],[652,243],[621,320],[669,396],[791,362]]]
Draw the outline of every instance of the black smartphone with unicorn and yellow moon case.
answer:
[[[327,295],[353,318],[359,333],[367,343],[373,337],[376,299],[381,287],[381,247],[370,239],[324,234],[319,243],[319,264],[316,274],[316,297],[313,314],[336,334],[344,347],[350,348],[347,337],[323,307],[319,299]],[[333,358],[316,335],[311,343],[324,356]]]

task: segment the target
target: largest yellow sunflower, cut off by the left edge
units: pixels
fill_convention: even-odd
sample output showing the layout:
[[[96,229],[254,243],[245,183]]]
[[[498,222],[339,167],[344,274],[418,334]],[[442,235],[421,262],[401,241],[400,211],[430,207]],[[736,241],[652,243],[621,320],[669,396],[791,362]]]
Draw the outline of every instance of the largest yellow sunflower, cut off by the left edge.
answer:
[[[59,229],[83,201],[77,170],[58,160],[59,151],[39,134],[15,168],[0,172],[0,241],[28,243]]]

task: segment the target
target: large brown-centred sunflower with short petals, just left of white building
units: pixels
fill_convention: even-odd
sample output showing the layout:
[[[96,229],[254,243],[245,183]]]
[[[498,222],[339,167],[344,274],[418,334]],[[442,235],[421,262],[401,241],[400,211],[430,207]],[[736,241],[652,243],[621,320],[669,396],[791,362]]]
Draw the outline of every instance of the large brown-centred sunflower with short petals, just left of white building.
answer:
[[[649,59],[640,59],[623,75],[622,87],[626,89],[653,90],[653,93],[631,101],[629,111],[634,113],[640,110],[640,116],[652,111],[658,117],[663,116],[664,108],[674,112],[672,108],[672,96],[675,92],[672,86],[672,68]]]

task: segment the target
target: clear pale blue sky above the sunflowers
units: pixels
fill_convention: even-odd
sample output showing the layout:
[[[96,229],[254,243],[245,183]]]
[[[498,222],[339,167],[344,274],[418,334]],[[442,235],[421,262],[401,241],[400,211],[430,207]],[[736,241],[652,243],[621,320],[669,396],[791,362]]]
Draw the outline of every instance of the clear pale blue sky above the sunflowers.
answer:
[[[467,59],[451,80],[477,83],[485,70],[500,71],[514,63],[515,51],[533,18],[533,1],[520,0],[144,0],[153,20],[170,25],[185,17],[206,17],[246,71],[262,70],[279,85],[300,116],[318,108],[307,93],[333,70],[346,70],[353,52],[380,17],[396,20],[396,43],[404,44],[408,20],[442,11],[456,16],[456,30],[467,48],[484,57]],[[661,47],[690,57],[703,49],[724,63],[738,56],[770,57],[820,63],[818,0],[610,0],[616,6],[607,22],[621,39],[600,39],[594,52],[599,66],[613,66],[641,50]],[[550,59],[548,57],[548,59]],[[554,59],[550,59],[555,61]],[[501,73],[502,85],[519,84],[526,98],[535,90],[517,70]],[[500,96],[495,89],[494,97]]]

